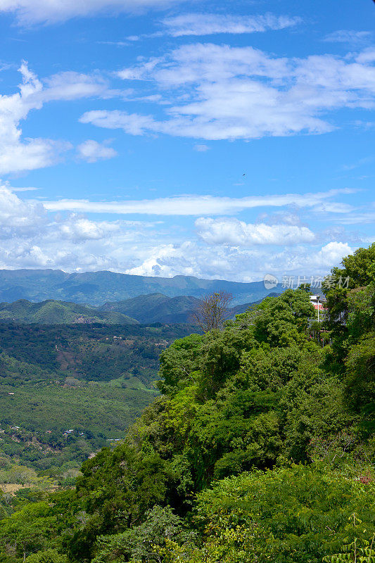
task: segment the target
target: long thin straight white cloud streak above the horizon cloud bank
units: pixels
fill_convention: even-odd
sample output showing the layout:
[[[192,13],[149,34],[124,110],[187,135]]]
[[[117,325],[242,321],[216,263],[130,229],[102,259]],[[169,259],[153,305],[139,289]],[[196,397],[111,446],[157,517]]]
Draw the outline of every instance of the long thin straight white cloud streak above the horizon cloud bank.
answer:
[[[60,199],[44,201],[50,211],[77,211],[80,213],[117,213],[119,215],[141,213],[145,215],[223,215],[238,213],[243,209],[258,207],[283,207],[295,205],[315,208],[325,200],[339,194],[352,194],[352,189],[333,189],[315,194],[282,194],[274,196],[248,196],[229,198],[215,196],[178,196],[134,201],[89,201],[84,199]],[[332,203],[338,206],[338,203]],[[318,208],[319,209],[319,208]],[[348,206],[348,211],[351,210]]]

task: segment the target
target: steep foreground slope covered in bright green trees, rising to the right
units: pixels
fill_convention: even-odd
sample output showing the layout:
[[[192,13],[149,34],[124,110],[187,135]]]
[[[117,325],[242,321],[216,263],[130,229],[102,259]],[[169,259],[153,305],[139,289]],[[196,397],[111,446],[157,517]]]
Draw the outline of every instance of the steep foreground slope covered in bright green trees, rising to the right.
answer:
[[[3,502],[0,562],[372,563],[375,244],[325,291],[324,324],[288,289],[165,348],[75,488]]]

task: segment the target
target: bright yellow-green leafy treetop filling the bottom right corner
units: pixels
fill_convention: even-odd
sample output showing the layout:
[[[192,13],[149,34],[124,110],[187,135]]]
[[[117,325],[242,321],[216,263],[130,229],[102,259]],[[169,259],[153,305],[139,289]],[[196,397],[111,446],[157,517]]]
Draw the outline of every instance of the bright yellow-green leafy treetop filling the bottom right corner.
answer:
[[[198,495],[197,518],[213,531],[198,560],[321,562],[348,537],[374,534],[374,493],[373,483],[324,464],[224,479]],[[355,510],[361,530],[347,525]]]

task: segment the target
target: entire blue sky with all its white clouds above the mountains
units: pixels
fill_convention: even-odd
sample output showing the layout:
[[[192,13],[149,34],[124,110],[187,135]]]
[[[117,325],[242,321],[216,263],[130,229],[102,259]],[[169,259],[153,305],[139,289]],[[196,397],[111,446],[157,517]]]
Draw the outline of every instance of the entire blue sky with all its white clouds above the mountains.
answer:
[[[0,267],[311,276],[375,240],[371,0],[0,0]]]

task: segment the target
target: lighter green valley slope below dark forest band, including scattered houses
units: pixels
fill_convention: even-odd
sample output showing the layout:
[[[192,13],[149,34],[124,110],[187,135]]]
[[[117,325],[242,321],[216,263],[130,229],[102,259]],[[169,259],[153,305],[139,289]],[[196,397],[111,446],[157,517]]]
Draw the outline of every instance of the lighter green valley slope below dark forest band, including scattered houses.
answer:
[[[125,436],[155,394],[134,376],[123,377],[116,385],[89,384],[65,377],[63,370],[43,369],[3,352],[0,466],[5,456],[11,467],[21,463],[62,476],[109,440]]]

